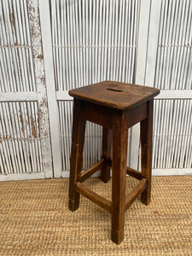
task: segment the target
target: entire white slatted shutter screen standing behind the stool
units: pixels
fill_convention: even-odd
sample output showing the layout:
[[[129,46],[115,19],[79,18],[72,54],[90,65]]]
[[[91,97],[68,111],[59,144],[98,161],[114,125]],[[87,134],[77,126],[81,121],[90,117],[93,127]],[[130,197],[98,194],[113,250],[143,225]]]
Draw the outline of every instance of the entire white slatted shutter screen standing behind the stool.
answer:
[[[53,167],[55,177],[67,177],[67,92],[102,80],[160,88],[154,174],[192,172],[191,1],[3,0],[0,17],[0,180],[53,177]],[[129,132],[134,168],[138,131]],[[84,168],[101,158],[101,148],[102,128],[88,123]]]

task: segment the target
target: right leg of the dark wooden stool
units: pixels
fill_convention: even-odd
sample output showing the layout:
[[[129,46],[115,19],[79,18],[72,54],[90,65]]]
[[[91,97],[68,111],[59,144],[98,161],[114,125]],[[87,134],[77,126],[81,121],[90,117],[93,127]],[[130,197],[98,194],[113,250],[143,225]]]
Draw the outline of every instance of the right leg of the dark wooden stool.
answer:
[[[148,118],[141,122],[142,176],[148,179],[148,185],[142,193],[141,201],[147,206],[151,197],[153,108],[154,101],[151,100],[148,102]]]

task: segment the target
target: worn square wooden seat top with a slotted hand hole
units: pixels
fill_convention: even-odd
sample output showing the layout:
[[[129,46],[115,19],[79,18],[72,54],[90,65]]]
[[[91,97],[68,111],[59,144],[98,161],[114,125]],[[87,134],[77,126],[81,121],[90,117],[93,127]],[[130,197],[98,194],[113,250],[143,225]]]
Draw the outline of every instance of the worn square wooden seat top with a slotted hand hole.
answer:
[[[69,95],[74,98],[119,110],[136,108],[159,93],[160,90],[153,87],[114,81],[103,81],[69,90]]]

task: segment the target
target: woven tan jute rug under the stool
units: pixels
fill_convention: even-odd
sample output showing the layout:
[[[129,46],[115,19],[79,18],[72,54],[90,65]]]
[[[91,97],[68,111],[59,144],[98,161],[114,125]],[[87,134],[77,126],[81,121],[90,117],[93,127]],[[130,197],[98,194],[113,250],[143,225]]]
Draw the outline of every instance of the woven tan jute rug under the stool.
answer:
[[[111,197],[111,181],[85,183]],[[127,177],[127,193],[136,183]],[[119,246],[110,214],[84,197],[70,212],[67,194],[67,178],[0,183],[0,255],[192,255],[192,176],[153,177],[152,201],[126,211]]]

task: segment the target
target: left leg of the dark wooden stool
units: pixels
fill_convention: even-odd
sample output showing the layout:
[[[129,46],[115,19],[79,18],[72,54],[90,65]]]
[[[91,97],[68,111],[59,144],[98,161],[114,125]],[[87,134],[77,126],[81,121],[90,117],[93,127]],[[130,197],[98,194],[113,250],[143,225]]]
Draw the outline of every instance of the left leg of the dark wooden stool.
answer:
[[[79,181],[83,164],[84,131],[85,120],[81,119],[80,102],[74,100],[68,201],[68,207],[73,212],[79,208],[79,193],[76,191],[76,183]]]

